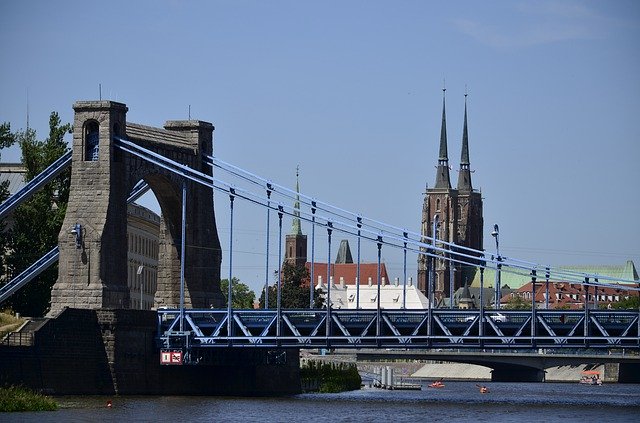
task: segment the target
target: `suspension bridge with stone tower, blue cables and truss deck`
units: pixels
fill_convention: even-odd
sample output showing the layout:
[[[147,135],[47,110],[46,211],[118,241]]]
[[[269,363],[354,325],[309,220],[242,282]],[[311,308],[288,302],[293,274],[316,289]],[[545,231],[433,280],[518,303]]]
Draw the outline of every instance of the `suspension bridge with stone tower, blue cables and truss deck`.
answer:
[[[52,310],[59,311],[70,306],[65,303],[65,292],[74,283],[71,279],[75,280],[71,273],[88,280],[80,289],[88,291],[90,289],[87,287],[99,286],[92,288],[93,293],[87,294],[84,307],[122,307],[129,293],[122,281],[126,281],[126,277],[122,277],[124,270],[117,267],[124,266],[125,259],[121,256],[107,257],[105,250],[111,246],[113,251],[126,251],[126,248],[117,244],[122,243],[126,236],[123,236],[123,232],[126,232],[126,216],[122,204],[135,201],[152,189],[161,202],[168,222],[164,239],[168,258],[160,264],[164,264],[166,271],[163,273],[163,282],[159,282],[155,301],[156,345],[161,352],[180,351],[184,354],[181,359],[185,363],[197,362],[197,357],[207,349],[229,347],[640,349],[640,310],[601,310],[594,307],[593,301],[593,298],[597,298],[598,290],[604,288],[623,287],[626,291],[638,293],[640,288],[637,281],[572,272],[498,254],[487,255],[482,250],[438,239],[435,226],[437,219],[433,221],[434,236],[428,237],[319,201],[213,156],[213,128],[210,124],[173,121],[162,130],[127,123],[126,107],[119,103],[79,102],[75,108],[73,150],[0,205],[0,218],[7,216],[17,205],[70,166],[74,168],[70,201],[73,201],[74,192],[86,189],[82,184],[86,185],[89,180],[91,184],[96,184],[87,176],[89,174],[107,179],[98,184],[107,193],[104,195],[106,206],[104,210],[96,206],[101,213],[98,213],[98,217],[88,217],[89,212],[83,215],[87,208],[76,207],[75,214],[65,218],[60,245],[7,282],[0,289],[0,302],[57,260],[62,264],[62,255],[68,254],[73,258],[76,257],[76,250],[82,250],[85,253],[82,257],[88,258],[83,258],[73,268],[67,264],[72,262],[70,259],[60,266],[59,280],[54,287],[55,295],[52,295]],[[185,140],[193,144],[187,145]],[[185,159],[189,154],[193,157]],[[82,173],[79,170],[76,173],[76,167]],[[105,171],[105,167],[108,170]],[[91,195],[94,195],[93,191]],[[234,231],[237,230],[234,227],[234,207],[242,202],[264,214],[267,232],[264,244],[265,285],[268,285],[270,276],[270,251],[278,252],[277,265],[283,262],[283,220],[296,218],[307,222],[311,228],[312,263],[316,240],[323,240],[327,257],[330,258],[337,234],[357,239],[358,267],[361,244],[373,246],[377,252],[378,269],[377,280],[374,281],[377,288],[376,308],[365,310],[360,307],[359,284],[355,286],[355,309],[334,307],[331,302],[331,283],[326,285],[324,307],[313,308],[314,284],[309,283],[309,307],[285,309],[282,307],[280,274],[275,283],[275,308],[237,310],[232,307],[232,301],[228,301],[225,307],[218,282],[222,257],[219,252],[207,256],[211,251],[220,250],[215,231],[213,198],[218,204],[218,211],[223,209],[221,204],[228,204],[228,251],[222,254],[228,265],[229,281],[234,276]],[[89,204],[87,207],[93,206]],[[118,215],[109,216],[110,213]],[[270,228],[273,219],[277,221],[275,229]],[[199,229],[203,232],[200,237],[197,236]],[[277,233],[276,245],[270,245],[272,230]],[[99,237],[95,235],[95,238],[91,238],[94,236],[92,231],[99,233]],[[69,233],[73,235],[70,240],[67,239]],[[187,251],[187,244],[202,247],[202,252],[192,252],[197,249]],[[380,304],[383,283],[381,257],[387,249],[400,251],[403,256],[403,298],[400,307],[393,310],[384,309]],[[189,257],[190,254],[199,256]],[[426,309],[405,307],[408,254],[426,257],[431,263],[426,292],[429,306]],[[98,260],[96,257],[99,257],[99,261],[91,262]],[[481,293],[486,269],[497,274],[516,273],[530,278],[533,293],[537,287],[548,287],[549,281],[554,280],[580,284],[584,291],[584,307],[582,310],[538,309],[536,302],[532,301],[530,310],[500,310],[499,301],[496,301],[495,307],[489,308],[484,306],[482,299],[478,309],[438,307],[434,301],[436,261],[478,268]],[[208,262],[214,265],[202,265]],[[92,263],[94,267],[91,267]],[[99,270],[95,270],[96,265]],[[321,275],[326,276],[327,282],[331,279],[330,266],[327,264],[326,274]],[[317,276],[312,274],[311,281]],[[496,284],[496,288],[499,289],[499,284]],[[265,291],[266,295],[268,292]],[[227,296],[232,298],[232,295],[232,286],[229,284]],[[269,304],[268,298],[265,304]]]

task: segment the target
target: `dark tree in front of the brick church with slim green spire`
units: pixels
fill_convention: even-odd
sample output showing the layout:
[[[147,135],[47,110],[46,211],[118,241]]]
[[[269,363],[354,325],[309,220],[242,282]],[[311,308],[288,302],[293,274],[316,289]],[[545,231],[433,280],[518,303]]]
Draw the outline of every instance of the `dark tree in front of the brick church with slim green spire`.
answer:
[[[309,308],[309,271],[305,266],[283,263],[281,268],[280,301],[282,308]],[[276,272],[277,275],[277,272]],[[306,286],[305,286],[306,285]],[[321,308],[324,304],[322,291],[314,290],[313,307]],[[269,287],[269,308],[278,306],[277,281]],[[264,289],[260,296],[260,307],[264,308]]]

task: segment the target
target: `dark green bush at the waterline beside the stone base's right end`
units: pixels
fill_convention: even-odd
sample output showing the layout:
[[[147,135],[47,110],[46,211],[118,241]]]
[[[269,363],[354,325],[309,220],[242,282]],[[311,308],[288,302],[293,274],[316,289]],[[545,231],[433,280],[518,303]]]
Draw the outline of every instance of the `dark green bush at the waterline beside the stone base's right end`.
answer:
[[[360,389],[362,378],[354,363],[323,363],[307,361],[300,368],[303,386],[315,386],[323,393]]]

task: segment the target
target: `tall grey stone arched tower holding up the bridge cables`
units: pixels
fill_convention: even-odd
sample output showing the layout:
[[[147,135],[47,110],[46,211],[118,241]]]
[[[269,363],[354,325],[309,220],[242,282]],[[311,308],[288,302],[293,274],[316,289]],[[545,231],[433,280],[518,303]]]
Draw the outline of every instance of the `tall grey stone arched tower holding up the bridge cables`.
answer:
[[[203,157],[212,154],[213,125],[169,121],[161,129],[129,123],[126,105],[113,101],[80,101],[74,110],[71,190],[58,237],[58,281],[49,314],[64,307],[129,307],[127,197],[140,180],[149,184],[162,211],[155,307],[177,307],[183,180],[121,150],[116,138],[211,175]],[[192,181],[186,188],[185,306],[222,306],[213,194]]]

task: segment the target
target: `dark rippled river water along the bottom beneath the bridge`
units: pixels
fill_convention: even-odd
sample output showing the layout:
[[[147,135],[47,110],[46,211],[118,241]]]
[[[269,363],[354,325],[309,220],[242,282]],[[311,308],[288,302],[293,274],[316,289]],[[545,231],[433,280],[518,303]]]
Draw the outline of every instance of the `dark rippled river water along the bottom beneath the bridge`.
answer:
[[[363,388],[281,398],[60,397],[55,412],[2,422],[640,422],[640,385],[445,382],[440,389]],[[108,400],[112,407],[106,407]]]

